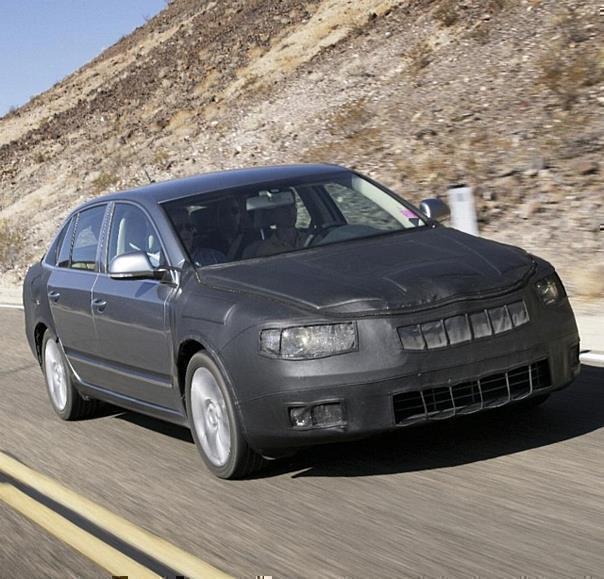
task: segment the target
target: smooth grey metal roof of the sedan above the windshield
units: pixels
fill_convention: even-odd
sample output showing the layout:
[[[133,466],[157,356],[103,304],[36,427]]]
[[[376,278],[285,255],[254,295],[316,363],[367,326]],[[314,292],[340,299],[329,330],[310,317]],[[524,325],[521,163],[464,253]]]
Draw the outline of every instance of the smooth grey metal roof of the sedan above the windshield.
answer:
[[[189,195],[211,193],[222,189],[231,189],[266,181],[300,178],[339,171],[348,171],[348,169],[339,165],[300,164],[216,171],[183,179],[152,183],[136,189],[103,195],[84,203],[78,209],[99,203],[99,201],[129,200],[153,205]]]

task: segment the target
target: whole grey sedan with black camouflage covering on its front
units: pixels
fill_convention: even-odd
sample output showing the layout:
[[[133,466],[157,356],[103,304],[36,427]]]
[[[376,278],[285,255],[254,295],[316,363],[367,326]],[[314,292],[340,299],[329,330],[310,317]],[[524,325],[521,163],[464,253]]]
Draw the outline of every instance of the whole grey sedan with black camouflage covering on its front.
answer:
[[[57,414],[191,429],[211,471],[520,402],[579,371],[553,267],[332,165],[153,184],[78,207],[24,282]]]

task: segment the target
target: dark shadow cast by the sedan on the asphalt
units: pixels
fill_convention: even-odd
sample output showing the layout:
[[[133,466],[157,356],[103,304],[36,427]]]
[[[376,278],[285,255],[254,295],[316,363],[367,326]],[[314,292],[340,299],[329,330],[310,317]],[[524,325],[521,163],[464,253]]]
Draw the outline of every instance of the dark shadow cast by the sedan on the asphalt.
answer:
[[[119,409],[114,409],[114,415],[193,444],[186,428]],[[584,366],[569,388],[536,408],[501,408],[357,442],[315,446],[271,461],[250,478],[360,477],[431,470],[555,444],[603,426],[604,369]]]

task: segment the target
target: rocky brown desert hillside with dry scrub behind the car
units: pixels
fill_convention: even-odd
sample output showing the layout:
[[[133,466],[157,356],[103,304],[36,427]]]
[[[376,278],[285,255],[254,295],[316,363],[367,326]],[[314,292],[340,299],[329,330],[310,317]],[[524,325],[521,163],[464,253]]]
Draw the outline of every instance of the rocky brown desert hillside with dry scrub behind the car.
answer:
[[[355,167],[475,187],[483,235],[604,295],[595,0],[172,0],[0,119],[0,285],[75,204],[212,169]]]

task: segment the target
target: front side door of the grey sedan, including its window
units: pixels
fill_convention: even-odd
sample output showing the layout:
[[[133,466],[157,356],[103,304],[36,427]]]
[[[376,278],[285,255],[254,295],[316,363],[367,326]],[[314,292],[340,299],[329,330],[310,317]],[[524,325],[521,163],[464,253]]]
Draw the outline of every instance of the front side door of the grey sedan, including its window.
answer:
[[[106,263],[133,252],[165,265],[157,229],[142,208],[116,203]],[[93,288],[92,310],[104,363],[99,384],[113,392],[163,408],[176,408],[172,389],[172,340],[168,300],[173,286],[158,280],[112,279],[101,273]]]

